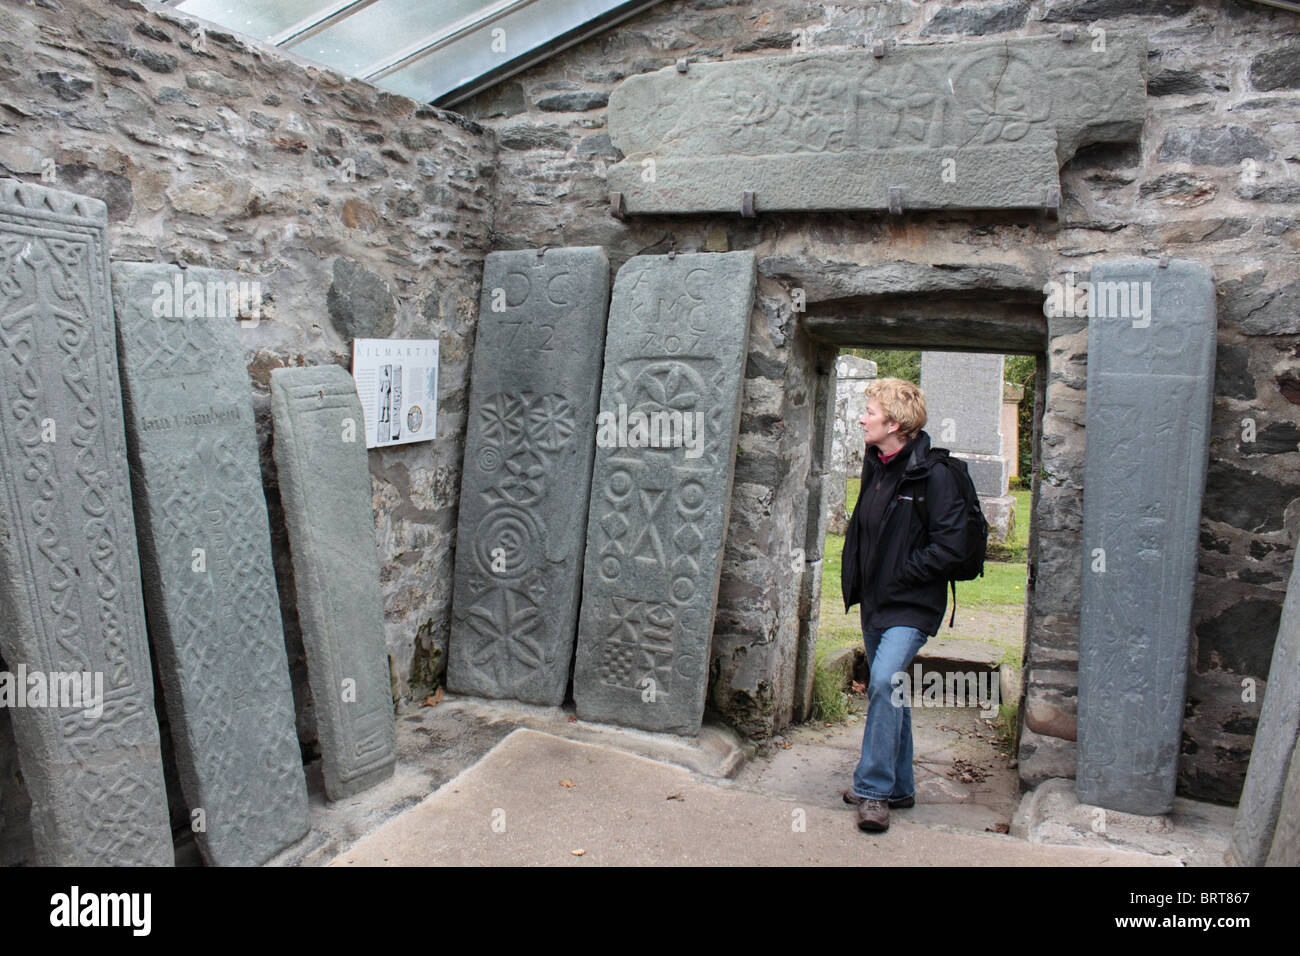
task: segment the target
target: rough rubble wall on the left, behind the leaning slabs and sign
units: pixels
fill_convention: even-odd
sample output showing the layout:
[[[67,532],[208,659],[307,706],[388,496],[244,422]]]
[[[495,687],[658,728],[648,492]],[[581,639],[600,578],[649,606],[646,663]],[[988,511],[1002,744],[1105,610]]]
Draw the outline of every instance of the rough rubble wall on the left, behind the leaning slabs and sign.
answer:
[[[0,8],[0,176],[108,204],[110,256],[238,271],[306,748],[315,726],[274,463],[273,368],[354,336],[442,341],[438,437],[372,451],[394,692],[441,674],[495,138],[462,116],[246,46],[156,5]]]

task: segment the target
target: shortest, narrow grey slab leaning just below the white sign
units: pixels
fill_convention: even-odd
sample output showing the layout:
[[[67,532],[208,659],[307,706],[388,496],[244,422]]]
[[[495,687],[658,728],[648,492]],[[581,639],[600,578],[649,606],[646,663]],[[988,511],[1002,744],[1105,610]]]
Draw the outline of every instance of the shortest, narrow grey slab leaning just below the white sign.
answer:
[[[339,365],[272,369],[270,408],[325,793],[342,800],[396,766],[365,419]]]

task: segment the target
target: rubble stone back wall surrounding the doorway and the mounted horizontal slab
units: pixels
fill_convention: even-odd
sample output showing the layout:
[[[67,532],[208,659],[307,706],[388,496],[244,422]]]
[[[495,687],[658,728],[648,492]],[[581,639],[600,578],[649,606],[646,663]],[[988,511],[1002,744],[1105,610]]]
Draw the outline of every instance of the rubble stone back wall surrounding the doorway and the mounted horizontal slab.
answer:
[[[603,172],[621,153],[604,131],[604,104],[624,77],[679,59],[779,56],[796,40],[829,51],[867,47],[874,39],[1037,35],[1065,25],[1075,25],[1078,42],[1093,40],[1089,26],[1145,33],[1149,79],[1140,142],[1087,147],[1067,163],[1060,221],[1039,213],[625,221],[608,215]],[[764,734],[789,719],[789,695],[797,689],[792,635],[800,610],[790,597],[801,584],[796,579],[811,580],[809,570],[792,571],[789,554],[802,548],[810,561],[820,558],[816,545],[807,544],[819,531],[809,520],[816,512],[809,493],[820,480],[810,449],[819,436],[809,407],[818,388],[819,346],[809,332],[814,326],[793,312],[790,276],[802,272],[801,281],[815,282],[833,269],[876,269],[906,278],[909,263],[942,265],[945,277],[963,267],[972,274],[988,268],[1017,273],[1009,281],[975,276],[950,298],[996,304],[1011,291],[1034,298],[1048,278],[1070,271],[1082,278],[1092,261],[1108,256],[1192,258],[1214,272],[1219,347],[1180,788],[1188,796],[1236,799],[1300,519],[1297,29],[1295,14],[1244,0],[897,0],[838,7],[673,0],[458,107],[499,135],[495,228],[502,247],[602,245],[615,268],[632,255],[670,248],[758,252],[763,280],[746,368],[710,697],[728,722]],[[781,265],[790,260],[802,263],[800,269]],[[918,280],[913,291],[924,297],[941,286],[928,282]],[[863,302],[832,304],[861,315]],[[875,343],[907,339],[913,347],[942,347],[935,328],[919,319],[910,339]],[[1035,346],[1045,354],[1048,381],[1040,467],[1034,470],[1035,588],[1022,709],[1022,775],[1031,783],[1074,773],[1087,341],[1087,320],[1061,319],[1052,320]],[[1024,350],[1020,342],[1014,350]],[[1243,440],[1245,419],[1253,421],[1253,442]],[[1257,684],[1254,700],[1243,702],[1243,682]]]

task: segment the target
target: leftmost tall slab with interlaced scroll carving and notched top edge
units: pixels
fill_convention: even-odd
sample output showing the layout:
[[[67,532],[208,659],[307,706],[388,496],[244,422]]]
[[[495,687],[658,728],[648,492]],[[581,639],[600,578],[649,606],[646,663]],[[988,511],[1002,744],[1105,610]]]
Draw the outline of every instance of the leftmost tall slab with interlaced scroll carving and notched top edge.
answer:
[[[98,715],[9,708],[47,866],[173,861],[107,225],[98,199],[0,181],[0,654],[103,682]]]

